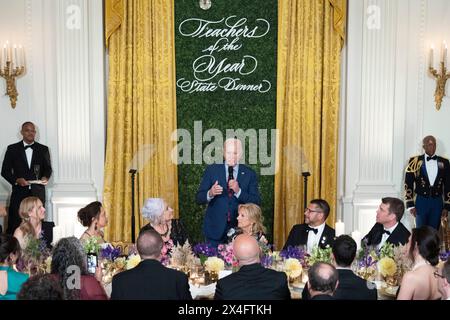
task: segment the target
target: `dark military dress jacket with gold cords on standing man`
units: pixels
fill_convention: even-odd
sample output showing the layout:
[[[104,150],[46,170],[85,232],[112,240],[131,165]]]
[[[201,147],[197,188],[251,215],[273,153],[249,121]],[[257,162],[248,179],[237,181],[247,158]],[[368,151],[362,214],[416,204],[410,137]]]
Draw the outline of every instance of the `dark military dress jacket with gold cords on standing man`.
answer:
[[[415,206],[415,195],[423,197],[443,197],[444,208],[450,210],[450,163],[447,159],[437,157],[438,172],[433,187],[430,187],[426,169],[427,155],[409,159],[405,174],[406,207]]]

